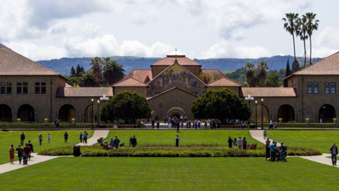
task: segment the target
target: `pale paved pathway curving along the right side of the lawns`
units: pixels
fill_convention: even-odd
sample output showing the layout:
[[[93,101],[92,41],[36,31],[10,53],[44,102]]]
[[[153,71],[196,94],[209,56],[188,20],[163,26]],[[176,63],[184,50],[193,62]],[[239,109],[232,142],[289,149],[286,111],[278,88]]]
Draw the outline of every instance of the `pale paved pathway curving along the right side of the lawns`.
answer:
[[[266,141],[264,141],[263,139],[263,130],[249,130],[249,133],[251,134],[251,137],[253,137],[257,141],[260,141],[261,143],[266,144]],[[307,159],[309,161],[314,161],[316,163],[322,163],[328,166],[332,166],[331,158],[327,158],[328,156],[331,156],[331,154],[322,154],[318,156],[299,156],[299,157]],[[339,168],[339,166],[335,166],[335,167]]]

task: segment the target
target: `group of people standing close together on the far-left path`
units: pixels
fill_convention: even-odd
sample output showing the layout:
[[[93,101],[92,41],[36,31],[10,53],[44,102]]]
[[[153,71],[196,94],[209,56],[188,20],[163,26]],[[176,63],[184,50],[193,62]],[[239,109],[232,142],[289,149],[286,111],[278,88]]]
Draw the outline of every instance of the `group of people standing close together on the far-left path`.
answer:
[[[11,147],[9,147],[8,152],[11,164],[14,164],[15,152],[18,151],[19,163],[21,164],[21,161],[23,161],[23,165],[28,165],[28,161],[30,161],[30,155],[32,152],[34,152],[33,144],[30,142],[30,140],[28,140],[28,143],[26,143],[24,147],[21,147],[21,145],[23,145],[23,142],[20,142],[18,148],[14,148],[13,144],[11,144]]]

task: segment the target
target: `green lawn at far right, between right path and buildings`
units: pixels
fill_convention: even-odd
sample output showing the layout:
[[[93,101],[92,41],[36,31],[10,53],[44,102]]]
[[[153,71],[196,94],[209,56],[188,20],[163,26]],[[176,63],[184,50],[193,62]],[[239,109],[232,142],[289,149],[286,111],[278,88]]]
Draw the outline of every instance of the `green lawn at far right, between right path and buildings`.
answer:
[[[268,131],[271,139],[283,142],[287,146],[307,146],[319,148],[329,153],[333,142],[339,144],[339,131]]]

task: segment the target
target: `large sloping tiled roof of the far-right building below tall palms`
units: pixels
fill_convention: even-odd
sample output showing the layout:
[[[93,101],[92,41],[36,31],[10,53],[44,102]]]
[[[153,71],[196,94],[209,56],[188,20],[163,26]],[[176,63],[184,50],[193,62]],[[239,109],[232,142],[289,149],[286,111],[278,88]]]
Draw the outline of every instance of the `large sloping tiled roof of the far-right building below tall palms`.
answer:
[[[306,66],[290,76],[292,75],[339,75],[339,52]],[[290,76],[287,76],[285,79],[290,78]]]

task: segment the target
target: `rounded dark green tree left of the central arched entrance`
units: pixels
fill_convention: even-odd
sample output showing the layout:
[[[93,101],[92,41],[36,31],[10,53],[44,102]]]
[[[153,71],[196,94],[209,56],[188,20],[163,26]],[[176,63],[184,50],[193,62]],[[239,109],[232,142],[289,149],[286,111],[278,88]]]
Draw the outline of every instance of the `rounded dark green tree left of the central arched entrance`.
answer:
[[[151,109],[145,97],[138,93],[124,91],[117,93],[102,105],[100,118],[102,121],[136,124],[138,119],[149,118],[150,112]]]

